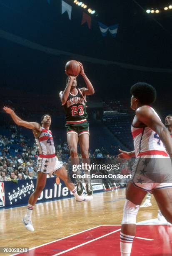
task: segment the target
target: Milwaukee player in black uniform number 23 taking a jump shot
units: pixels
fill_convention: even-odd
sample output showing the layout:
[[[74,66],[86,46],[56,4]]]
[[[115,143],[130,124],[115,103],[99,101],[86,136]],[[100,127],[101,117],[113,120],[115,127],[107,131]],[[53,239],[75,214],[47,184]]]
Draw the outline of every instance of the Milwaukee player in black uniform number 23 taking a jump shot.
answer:
[[[67,143],[70,149],[72,164],[78,164],[77,144],[80,143],[80,151],[83,163],[89,164],[89,124],[87,121],[86,95],[94,94],[92,83],[87,78],[82,64],[80,74],[87,88],[77,88],[76,77],[69,76],[64,91],[59,96],[66,112]],[[67,74],[67,73],[66,73]],[[85,170],[86,171],[86,170]],[[92,185],[89,179],[85,179],[87,195],[92,195]],[[77,193],[83,194],[82,180],[77,179]]]

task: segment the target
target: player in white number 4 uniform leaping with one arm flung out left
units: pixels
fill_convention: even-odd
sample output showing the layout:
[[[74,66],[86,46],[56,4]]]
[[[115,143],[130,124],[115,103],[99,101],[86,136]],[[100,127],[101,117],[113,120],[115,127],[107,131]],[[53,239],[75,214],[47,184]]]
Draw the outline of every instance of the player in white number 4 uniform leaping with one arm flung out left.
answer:
[[[15,112],[11,108],[4,107],[6,113],[10,114],[11,118],[17,125],[24,126],[26,128],[32,129],[33,135],[35,137],[37,146],[39,148],[39,156],[38,156],[38,169],[37,169],[37,184],[35,191],[30,195],[27,211],[25,217],[23,218],[23,223],[25,227],[34,231],[32,225],[32,210],[37,202],[38,197],[40,196],[42,190],[45,187],[47,174],[52,173],[60,177],[62,179],[68,189],[73,193],[77,202],[82,201],[90,201],[90,197],[88,196],[79,196],[77,195],[76,188],[74,184],[69,182],[67,177],[67,171],[63,164],[57,159],[55,156],[55,146],[52,137],[52,133],[49,130],[51,125],[51,116],[49,114],[45,114],[41,118],[41,125],[36,122],[26,122],[19,118]]]

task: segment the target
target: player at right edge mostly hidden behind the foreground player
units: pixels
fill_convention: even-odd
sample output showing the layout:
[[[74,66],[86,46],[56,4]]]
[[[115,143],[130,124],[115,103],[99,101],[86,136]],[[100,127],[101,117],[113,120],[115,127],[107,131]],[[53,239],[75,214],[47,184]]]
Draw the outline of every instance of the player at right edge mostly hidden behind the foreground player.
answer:
[[[170,136],[172,137],[172,114],[169,114],[165,118],[165,126],[167,127]],[[140,208],[146,208],[152,206],[151,203],[151,194],[147,193],[145,202],[140,206]],[[158,213],[158,219],[164,220],[164,216],[162,216],[161,212]]]

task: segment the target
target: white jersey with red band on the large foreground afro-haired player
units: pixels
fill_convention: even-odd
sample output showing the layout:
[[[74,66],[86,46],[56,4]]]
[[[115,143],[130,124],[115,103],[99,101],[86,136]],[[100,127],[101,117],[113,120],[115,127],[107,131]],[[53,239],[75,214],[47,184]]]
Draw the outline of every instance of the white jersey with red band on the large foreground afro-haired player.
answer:
[[[155,115],[160,118],[156,111],[153,108],[151,109]],[[136,128],[132,126],[132,137],[134,140],[136,157],[151,155],[160,155],[160,157],[168,156],[165,146],[160,140],[160,137],[151,128]]]

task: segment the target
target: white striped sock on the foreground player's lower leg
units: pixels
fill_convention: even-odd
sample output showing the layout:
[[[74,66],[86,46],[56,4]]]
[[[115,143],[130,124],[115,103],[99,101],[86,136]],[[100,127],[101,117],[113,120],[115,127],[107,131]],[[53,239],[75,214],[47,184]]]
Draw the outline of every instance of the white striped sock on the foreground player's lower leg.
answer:
[[[121,256],[130,256],[133,239],[134,236],[129,236],[120,232]]]

